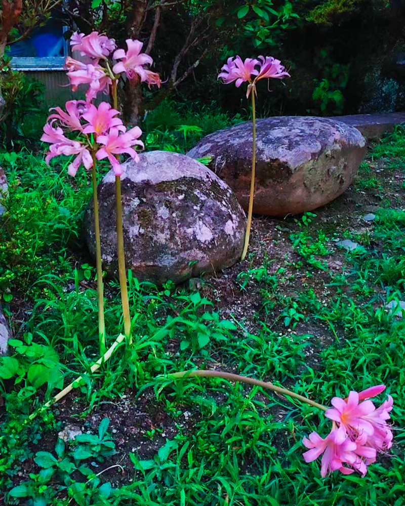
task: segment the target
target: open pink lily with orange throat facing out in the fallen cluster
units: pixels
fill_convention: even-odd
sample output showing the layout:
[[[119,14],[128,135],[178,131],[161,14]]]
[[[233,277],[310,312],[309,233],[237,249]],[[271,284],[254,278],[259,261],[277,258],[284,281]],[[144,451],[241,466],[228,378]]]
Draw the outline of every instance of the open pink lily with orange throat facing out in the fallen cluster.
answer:
[[[366,415],[370,415],[376,409],[372,401],[366,400],[359,404],[358,393],[350,392],[347,401],[334,397],[332,406],[334,408],[328,409],[325,416],[343,426],[350,436],[355,437],[362,433],[373,435],[373,425],[366,418]]]

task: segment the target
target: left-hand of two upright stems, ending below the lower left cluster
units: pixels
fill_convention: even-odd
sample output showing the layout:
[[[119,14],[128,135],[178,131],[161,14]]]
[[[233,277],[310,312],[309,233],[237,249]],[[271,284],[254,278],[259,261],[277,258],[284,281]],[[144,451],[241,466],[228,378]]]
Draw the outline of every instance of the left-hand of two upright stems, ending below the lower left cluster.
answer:
[[[104,323],[104,294],[103,294],[103,269],[101,266],[101,240],[100,222],[97,199],[97,166],[96,156],[92,152],[92,182],[93,182],[93,203],[94,203],[94,226],[96,231],[96,266],[97,266],[97,298],[98,298],[98,333],[100,341],[100,354],[105,353],[105,323]]]

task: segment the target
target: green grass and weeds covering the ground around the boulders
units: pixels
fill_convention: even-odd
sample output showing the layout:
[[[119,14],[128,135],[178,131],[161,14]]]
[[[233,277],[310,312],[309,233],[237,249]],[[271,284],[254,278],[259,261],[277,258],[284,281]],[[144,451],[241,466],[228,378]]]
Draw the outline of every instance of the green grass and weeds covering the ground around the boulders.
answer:
[[[225,119],[216,121],[215,128]],[[181,145],[181,136],[176,139]],[[94,374],[95,270],[80,248],[89,184],[83,174],[68,179],[66,167],[46,168],[42,156],[23,152],[14,162],[4,156],[10,197],[0,219],[0,291],[15,331],[11,356],[0,366],[4,503],[404,504],[402,431],[365,478],[322,479],[319,463],[302,458],[302,437],[329,431],[316,409],[215,379],[156,379],[193,367],[222,368],[323,404],[385,383],[401,429],[405,318],[387,313],[385,304],[405,300],[405,212],[397,200],[400,194],[403,202],[404,190],[393,177],[403,175],[404,147],[397,129],[370,151],[367,171],[348,192],[356,203],[343,203],[341,214],[335,201],[302,217],[257,220],[249,260],[202,280],[198,290],[130,277],[134,346],[119,348]],[[383,200],[374,195],[374,180]],[[369,201],[378,201],[376,219],[363,230],[361,206]],[[271,231],[271,241],[260,226]],[[338,249],[333,239],[343,237],[359,247]],[[122,327],[116,280],[106,282],[106,294],[112,343]],[[65,402],[24,426],[28,413],[77,374],[84,381]],[[100,425],[105,418],[107,427]],[[72,423],[84,436],[62,447],[58,432]]]

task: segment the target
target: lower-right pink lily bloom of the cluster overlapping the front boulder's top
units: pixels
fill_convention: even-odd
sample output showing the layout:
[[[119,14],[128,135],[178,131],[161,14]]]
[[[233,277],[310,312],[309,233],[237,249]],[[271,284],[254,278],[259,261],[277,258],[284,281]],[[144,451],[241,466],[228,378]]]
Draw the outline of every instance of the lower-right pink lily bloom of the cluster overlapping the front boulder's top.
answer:
[[[144,147],[143,142],[138,140],[141,135],[142,131],[139,126],[135,126],[133,129],[128,132],[121,133],[120,135],[118,129],[114,126],[109,130],[108,134],[98,136],[97,142],[99,144],[103,144],[104,147],[97,151],[96,158],[98,160],[108,158],[114,170],[115,176],[121,176],[123,174],[123,169],[114,155],[128,153],[132,159],[138,162],[138,153],[132,148],[132,146],[138,145],[142,148]]]

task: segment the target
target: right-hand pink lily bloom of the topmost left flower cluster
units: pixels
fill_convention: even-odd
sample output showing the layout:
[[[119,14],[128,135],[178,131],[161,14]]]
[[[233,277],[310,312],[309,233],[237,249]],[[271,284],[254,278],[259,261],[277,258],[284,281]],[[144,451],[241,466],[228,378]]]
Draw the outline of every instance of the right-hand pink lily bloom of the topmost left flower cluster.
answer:
[[[117,49],[112,55],[114,60],[121,60],[112,67],[115,74],[125,72],[129,79],[140,77],[141,81],[147,80],[146,70],[143,65],[152,65],[153,60],[149,55],[141,53],[143,44],[140,40],[127,39],[128,51]]]

